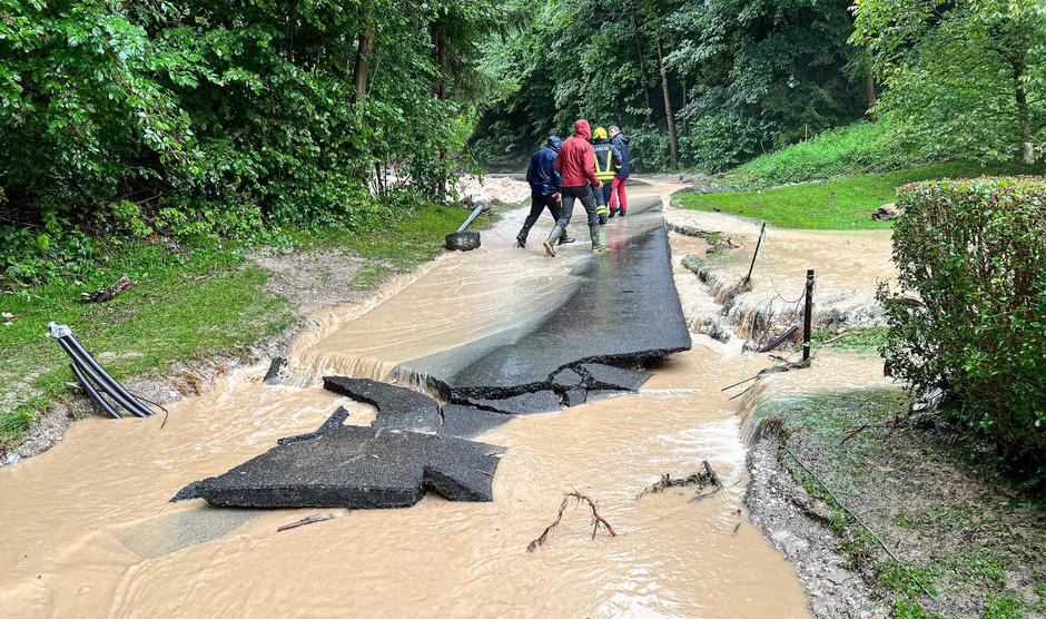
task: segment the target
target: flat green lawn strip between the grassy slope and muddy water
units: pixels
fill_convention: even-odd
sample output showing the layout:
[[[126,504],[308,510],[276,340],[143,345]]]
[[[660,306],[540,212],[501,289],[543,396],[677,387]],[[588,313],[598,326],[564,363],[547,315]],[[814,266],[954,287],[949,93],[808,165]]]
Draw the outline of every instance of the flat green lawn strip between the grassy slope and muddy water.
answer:
[[[950,161],[771,189],[723,194],[682,191],[675,198],[684,208],[720,210],[781,228],[888,228],[889,222],[876,222],[871,214],[879,206],[894,202],[897,187],[906,183],[1007,171],[1007,167]]]

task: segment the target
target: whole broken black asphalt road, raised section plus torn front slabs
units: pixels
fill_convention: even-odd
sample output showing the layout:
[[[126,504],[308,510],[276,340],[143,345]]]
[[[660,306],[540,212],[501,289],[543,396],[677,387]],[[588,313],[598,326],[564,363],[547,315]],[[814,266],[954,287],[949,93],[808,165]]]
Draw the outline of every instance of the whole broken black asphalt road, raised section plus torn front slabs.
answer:
[[[345,376],[324,387],[377,409],[371,428],[345,426],[339,410],[319,430],[283,439],[229,472],[189,484],[175,500],[214,505],[406,507],[433,490],[490,501],[502,450],[473,436],[511,415],[552,412],[635,392],[644,363],[689,350],[664,226],[642,227],[611,254],[583,263],[581,284],[519,337],[480,346],[463,367],[428,383],[451,404],[409,389]],[[634,219],[633,219],[634,220]]]

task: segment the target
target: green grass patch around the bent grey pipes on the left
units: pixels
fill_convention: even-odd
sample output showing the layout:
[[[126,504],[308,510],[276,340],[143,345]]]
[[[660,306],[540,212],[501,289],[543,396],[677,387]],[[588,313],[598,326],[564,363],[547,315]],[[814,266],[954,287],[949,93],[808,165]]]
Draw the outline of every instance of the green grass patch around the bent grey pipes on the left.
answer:
[[[79,301],[85,291],[126,273],[149,282],[103,304]],[[4,294],[0,327],[0,443],[10,445],[37,413],[71,382],[69,360],[45,337],[47,323],[72,325],[77,337],[118,380],[161,372],[176,361],[229,351],[285,328],[287,303],[262,291],[268,275],[245,266],[239,252],[197,247],[188,255],[162,244],[125,244],[83,279],[62,278]]]

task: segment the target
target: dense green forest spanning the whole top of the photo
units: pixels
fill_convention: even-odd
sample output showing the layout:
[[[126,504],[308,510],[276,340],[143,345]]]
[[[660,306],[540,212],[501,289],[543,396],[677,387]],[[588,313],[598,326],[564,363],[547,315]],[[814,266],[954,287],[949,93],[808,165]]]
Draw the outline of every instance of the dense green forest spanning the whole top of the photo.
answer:
[[[866,118],[911,160],[1032,161],[1044,21],[1025,0],[8,0],[2,276],[100,239],[352,228],[576,117],[621,125],[641,170]]]

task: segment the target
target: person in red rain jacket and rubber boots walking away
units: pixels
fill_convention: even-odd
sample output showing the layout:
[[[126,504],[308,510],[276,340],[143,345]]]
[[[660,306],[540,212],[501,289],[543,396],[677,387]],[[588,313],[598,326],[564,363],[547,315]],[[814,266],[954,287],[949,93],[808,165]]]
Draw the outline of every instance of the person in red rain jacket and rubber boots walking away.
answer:
[[[555,222],[555,227],[545,240],[545,253],[555,257],[555,244],[570,224],[570,216],[574,210],[574,200],[580,199],[589,215],[589,236],[592,237],[592,252],[605,252],[606,247],[600,242],[599,217],[595,214],[595,195],[593,187],[603,187],[595,176],[595,155],[592,151],[592,129],[588,120],[574,121],[574,135],[563,143],[560,154],[555,158],[555,169],[562,177],[561,195],[563,196],[563,215]]]

